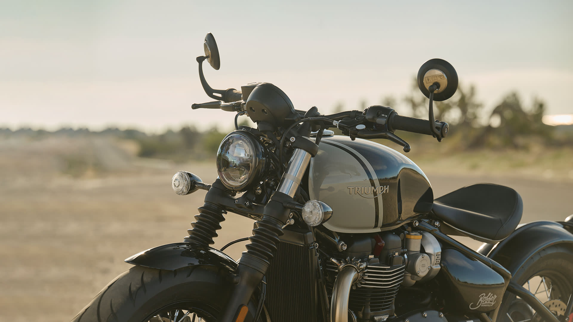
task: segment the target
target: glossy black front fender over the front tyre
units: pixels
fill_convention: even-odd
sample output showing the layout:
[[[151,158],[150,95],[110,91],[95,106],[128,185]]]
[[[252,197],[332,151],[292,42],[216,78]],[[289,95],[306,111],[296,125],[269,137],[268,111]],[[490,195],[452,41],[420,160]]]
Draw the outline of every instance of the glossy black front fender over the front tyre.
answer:
[[[176,242],[144,250],[125,259],[125,262],[148,268],[176,270],[186,266],[216,266],[234,273],[237,262],[220,250],[209,246]]]

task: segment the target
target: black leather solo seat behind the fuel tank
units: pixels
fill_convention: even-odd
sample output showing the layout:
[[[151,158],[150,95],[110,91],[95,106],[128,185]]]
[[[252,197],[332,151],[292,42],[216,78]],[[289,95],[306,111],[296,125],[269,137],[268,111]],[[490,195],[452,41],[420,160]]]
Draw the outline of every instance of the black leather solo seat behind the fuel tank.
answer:
[[[461,233],[499,241],[519,224],[523,202],[517,191],[509,187],[478,183],[435,199],[432,210]]]

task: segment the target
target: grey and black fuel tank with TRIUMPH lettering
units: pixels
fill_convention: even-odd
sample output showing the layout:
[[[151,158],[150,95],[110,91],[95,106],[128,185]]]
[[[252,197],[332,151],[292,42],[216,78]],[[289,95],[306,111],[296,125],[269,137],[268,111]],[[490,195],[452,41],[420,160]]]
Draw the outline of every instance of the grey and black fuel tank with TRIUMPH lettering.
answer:
[[[311,159],[309,197],[327,203],[323,225],[339,233],[393,229],[431,211],[434,194],[422,170],[401,153],[368,140],[324,137]]]

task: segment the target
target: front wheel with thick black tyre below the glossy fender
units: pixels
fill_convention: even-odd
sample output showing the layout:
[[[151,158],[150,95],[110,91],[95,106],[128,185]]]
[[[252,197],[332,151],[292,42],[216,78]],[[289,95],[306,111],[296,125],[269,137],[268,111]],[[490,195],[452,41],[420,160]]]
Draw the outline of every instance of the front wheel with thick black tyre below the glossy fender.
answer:
[[[72,322],[216,322],[229,300],[226,273],[212,266],[135,266],[110,282]],[[245,321],[253,320],[249,305]],[[260,321],[260,320],[259,320]]]

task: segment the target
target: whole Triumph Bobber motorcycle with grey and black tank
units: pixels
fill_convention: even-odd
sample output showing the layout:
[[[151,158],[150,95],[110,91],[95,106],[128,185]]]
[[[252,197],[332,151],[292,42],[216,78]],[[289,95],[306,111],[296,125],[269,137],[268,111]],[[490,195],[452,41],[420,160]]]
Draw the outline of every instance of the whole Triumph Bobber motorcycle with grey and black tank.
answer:
[[[448,135],[433,101],[456,92],[448,62],[421,66],[428,120],[373,105],[322,115],[300,111],[278,87],[213,89],[213,35],[197,57],[216,101],[192,108],[236,113],[217,152],[218,178],[172,178],[176,194],[206,190],[183,242],[144,250],[73,321],[121,322],[568,322],[573,319],[573,216],[519,225],[523,203],[497,184],[435,198],[395,131]],[[256,128],[238,126],[244,115]],[[343,135],[333,135],[336,128]],[[211,248],[225,215],[254,219],[248,238]],[[450,236],[484,244],[476,251]],[[239,261],[223,253],[247,241]]]

